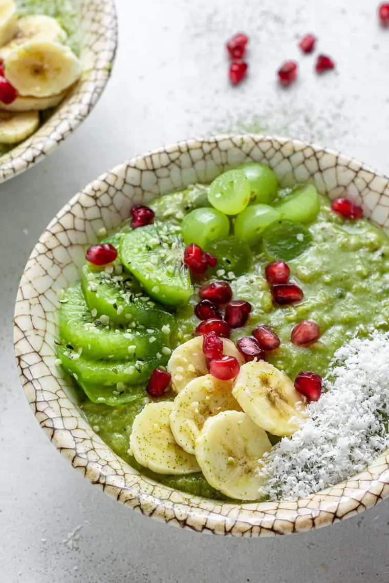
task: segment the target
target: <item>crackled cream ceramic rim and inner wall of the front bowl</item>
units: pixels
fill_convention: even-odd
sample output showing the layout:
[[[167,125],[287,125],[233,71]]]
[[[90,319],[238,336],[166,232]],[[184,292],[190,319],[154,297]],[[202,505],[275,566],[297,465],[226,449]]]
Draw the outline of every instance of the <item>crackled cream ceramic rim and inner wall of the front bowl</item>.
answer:
[[[362,512],[389,495],[389,454],[365,472],[296,502],[227,504],[161,486],[122,461],[83,418],[55,365],[57,293],[76,282],[86,245],[129,216],[134,204],[193,182],[209,182],[247,161],[265,161],[281,184],[313,181],[331,198],[344,194],[388,230],[388,178],[319,146],[259,135],[178,142],[121,164],[76,195],[52,220],[26,265],[15,309],[15,350],[31,408],[52,443],[93,484],[128,507],[169,524],[218,535],[269,536],[309,531]]]

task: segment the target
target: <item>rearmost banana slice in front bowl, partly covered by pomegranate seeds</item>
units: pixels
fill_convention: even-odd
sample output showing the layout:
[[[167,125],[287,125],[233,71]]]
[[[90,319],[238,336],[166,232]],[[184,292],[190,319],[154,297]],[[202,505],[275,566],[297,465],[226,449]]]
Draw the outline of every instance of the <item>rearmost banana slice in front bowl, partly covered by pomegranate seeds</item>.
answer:
[[[239,364],[244,363],[242,355],[231,340],[223,338],[223,352],[234,356]],[[171,374],[171,384],[176,393],[182,391],[192,379],[208,374],[206,358],[202,352],[202,336],[195,336],[173,350],[167,370]]]

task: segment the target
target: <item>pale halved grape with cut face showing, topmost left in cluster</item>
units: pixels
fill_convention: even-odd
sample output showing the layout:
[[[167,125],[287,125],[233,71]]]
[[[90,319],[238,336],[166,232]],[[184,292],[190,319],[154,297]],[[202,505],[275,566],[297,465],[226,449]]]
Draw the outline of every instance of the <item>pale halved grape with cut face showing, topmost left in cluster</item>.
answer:
[[[241,170],[223,172],[211,183],[208,200],[226,215],[238,215],[250,201],[250,182]]]

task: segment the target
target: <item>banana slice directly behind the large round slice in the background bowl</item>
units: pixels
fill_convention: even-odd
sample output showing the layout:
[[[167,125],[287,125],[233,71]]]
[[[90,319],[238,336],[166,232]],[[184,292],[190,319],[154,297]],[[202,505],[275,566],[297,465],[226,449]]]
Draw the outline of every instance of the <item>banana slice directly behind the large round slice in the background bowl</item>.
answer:
[[[64,43],[67,34],[58,21],[43,14],[25,16],[17,20],[15,36],[0,48],[0,59],[5,61],[10,52],[27,41]]]

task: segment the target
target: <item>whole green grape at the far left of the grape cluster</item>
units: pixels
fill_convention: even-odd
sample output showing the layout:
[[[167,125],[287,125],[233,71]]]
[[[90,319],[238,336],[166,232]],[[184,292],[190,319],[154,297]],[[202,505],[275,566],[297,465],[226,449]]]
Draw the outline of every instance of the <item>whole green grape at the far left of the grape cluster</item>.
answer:
[[[216,239],[227,237],[230,222],[220,210],[202,208],[192,210],[181,224],[185,245],[196,243],[202,249]]]

